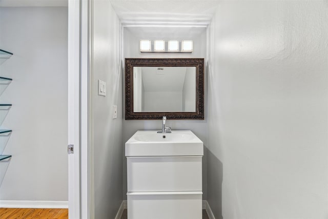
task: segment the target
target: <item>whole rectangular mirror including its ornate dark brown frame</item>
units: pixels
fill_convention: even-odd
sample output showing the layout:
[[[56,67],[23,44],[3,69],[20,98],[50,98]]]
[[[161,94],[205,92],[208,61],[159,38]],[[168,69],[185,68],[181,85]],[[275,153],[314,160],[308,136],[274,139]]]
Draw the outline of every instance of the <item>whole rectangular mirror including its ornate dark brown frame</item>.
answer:
[[[126,58],[126,120],[204,119],[204,58]]]

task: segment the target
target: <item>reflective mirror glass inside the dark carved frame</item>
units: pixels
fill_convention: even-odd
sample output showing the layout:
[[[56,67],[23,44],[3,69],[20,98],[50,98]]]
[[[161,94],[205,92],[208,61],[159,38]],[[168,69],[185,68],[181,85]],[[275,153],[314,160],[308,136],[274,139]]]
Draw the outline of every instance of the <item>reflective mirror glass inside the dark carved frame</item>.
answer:
[[[196,112],[196,67],[133,67],[134,112]]]

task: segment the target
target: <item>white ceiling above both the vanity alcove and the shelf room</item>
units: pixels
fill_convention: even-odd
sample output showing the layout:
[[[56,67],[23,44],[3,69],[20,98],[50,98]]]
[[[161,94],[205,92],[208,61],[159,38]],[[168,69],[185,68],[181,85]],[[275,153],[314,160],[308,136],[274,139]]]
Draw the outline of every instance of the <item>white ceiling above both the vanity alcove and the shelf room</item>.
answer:
[[[0,7],[67,7],[72,0],[0,0]],[[125,23],[208,24],[218,0],[94,0],[110,1]]]

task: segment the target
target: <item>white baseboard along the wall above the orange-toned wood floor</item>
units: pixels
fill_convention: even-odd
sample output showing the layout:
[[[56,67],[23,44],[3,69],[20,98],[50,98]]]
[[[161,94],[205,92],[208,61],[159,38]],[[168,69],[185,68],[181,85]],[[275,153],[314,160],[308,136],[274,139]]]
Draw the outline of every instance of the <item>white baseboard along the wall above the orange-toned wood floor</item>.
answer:
[[[1,201],[0,208],[68,208],[67,201]]]

